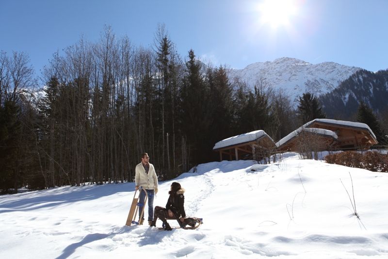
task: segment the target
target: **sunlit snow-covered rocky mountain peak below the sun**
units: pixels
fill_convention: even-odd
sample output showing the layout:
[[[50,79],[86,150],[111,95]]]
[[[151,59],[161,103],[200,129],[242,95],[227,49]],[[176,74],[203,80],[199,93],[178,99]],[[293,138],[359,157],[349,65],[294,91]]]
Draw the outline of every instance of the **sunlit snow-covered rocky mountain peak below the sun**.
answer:
[[[334,62],[310,64],[306,61],[283,57],[274,61],[258,62],[244,69],[229,70],[229,77],[239,77],[253,86],[258,79],[266,79],[275,89],[284,89],[291,101],[304,92],[321,95],[332,91],[339,83],[360,68]]]

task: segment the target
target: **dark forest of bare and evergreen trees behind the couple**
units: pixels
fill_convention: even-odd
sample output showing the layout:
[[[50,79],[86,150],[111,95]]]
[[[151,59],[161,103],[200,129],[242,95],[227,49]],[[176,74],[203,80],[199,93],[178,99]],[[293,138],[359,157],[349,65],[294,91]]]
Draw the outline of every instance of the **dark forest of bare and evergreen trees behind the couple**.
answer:
[[[149,48],[109,26],[98,42],[81,38],[53,54],[42,91],[32,90],[29,63],[25,53],[0,53],[3,192],[133,181],[143,152],[161,180],[171,179],[217,160],[219,140],[262,129],[276,141],[310,113],[296,113],[263,78],[248,86],[193,50],[181,57],[164,25]]]

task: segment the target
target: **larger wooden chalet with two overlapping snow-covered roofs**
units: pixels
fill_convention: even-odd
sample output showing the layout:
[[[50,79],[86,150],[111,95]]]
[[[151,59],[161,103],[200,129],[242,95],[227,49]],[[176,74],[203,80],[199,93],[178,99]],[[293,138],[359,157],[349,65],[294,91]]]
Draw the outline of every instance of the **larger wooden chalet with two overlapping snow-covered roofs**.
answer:
[[[309,141],[311,144],[314,140],[319,150],[369,149],[378,143],[371,128],[365,123],[315,119],[280,139],[276,146],[279,151],[297,151],[297,143]]]

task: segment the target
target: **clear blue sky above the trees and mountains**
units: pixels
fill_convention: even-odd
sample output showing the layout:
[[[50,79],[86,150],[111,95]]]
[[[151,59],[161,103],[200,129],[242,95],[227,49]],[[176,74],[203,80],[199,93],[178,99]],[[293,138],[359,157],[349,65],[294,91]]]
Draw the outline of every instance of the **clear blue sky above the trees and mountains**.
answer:
[[[270,13],[262,0],[0,0],[0,50],[28,53],[39,74],[81,36],[97,42],[105,24],[147,47],[164,23],[181,56],[192,48],[216,66],[286,56],[388,69],[388,0],[283,1]]]

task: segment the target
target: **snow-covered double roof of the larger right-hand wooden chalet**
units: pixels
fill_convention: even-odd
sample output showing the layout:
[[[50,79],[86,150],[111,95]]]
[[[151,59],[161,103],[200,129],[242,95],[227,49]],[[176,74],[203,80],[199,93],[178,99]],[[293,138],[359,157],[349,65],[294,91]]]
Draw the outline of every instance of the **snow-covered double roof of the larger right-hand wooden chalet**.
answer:
[[[291,132],[286,137],[280,139],[278,142],[276,142],[276,147],[280,147],[281,145],[283,145],[284,143],[289,141],[291,138],[293,138],[296,135],[298,135],[302,130],[306,131],[307,129],[313,129],[313,131],[311,131],[311,132],[314,132],[314,133],[317,133],[317,134],[331,135],[333,138],[336,138],[336,139],[338,138],[337,134],[334,133],[331,130],[324,130],[324,131],[326,131],[326,133],[324,133],[322,131],[323,129],[309,128],[309,126],[311,124],[313,124],[314,122],[321,122],[321,123],[327,123],[327,124],[336,124],[336,125],[340,125],[340,126],[348,126],[348,127],[353,127],[353,128],[366,129],[366,130],[368,130],[371,133],[373,138],[376,138],[376,136],[372,132],[371,128],[367,124],[365,124],[365,123],[353,122],[353,121],[338,121],[338,120],[332,120],[332,119],[315,119],[315,120],[312,120],[312,121],[308,121],[306,124],[302,125],[300,128],[294,130],[293,132]],[[317,130],[321,130],[321,131],[318,132]],[[335,135],[335,137],[334,137],[333,134]]]

